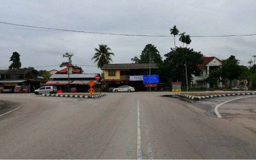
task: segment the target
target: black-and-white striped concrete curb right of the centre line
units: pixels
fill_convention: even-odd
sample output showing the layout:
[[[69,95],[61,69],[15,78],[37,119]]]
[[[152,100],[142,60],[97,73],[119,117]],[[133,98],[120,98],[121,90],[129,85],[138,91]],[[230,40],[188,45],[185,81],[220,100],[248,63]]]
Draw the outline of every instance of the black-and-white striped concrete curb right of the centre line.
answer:
[[[233,93],[233,94],[219,94],[219,95],[212,95],[212,96],[188,96],[185,94],[175,93],[175,96],[178,98],[186,98],[192,100],[200,100],[200,99],[210,99],[215,97],[224,97],[224,96],[241,96],[241,95],[255,95],[256,92],[250,93]]]

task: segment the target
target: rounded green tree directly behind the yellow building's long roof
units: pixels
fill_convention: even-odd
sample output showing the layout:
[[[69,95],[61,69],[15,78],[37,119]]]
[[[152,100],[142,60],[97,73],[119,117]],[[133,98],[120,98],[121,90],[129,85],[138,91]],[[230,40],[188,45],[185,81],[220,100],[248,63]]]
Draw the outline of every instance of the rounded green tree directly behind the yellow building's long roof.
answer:
[[[149,53],[150,53],[150,63],[156,63],[158,65],[162,64],[162,57],[153,44],[147,44],[140,54],[139,63],[149,63]]]

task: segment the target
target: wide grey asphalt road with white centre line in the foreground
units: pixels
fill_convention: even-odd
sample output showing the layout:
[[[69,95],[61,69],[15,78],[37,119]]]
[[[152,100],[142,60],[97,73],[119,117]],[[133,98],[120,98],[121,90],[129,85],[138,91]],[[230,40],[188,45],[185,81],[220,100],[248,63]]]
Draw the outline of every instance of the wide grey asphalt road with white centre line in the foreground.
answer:
[[[160,95],[1,94],[20,108],[0,116],[0,159],[255,159],[256,134]]]

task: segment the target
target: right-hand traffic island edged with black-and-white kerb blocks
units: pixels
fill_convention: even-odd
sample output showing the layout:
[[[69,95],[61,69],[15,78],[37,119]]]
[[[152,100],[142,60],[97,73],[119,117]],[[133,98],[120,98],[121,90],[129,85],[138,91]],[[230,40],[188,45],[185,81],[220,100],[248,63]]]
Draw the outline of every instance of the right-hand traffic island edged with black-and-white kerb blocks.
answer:
[[[191,99],[191,100],[200,100],[200,99],[210,99],[210,98],[224,97],[224,96],[241,96],[241,95],[255,95],[255,94],[256,94],[256,92],[250,92],[250,93],[188,93],[188,94],[175,93],[175,97],[186,98],[186,99]]]

